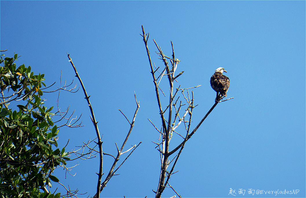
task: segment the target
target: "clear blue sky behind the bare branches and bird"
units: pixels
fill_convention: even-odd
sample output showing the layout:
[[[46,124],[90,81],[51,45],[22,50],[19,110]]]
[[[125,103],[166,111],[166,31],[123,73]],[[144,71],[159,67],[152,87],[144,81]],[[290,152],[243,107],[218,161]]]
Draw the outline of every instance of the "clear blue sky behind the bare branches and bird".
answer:
[[[192,129],[214,104],[209,80],[215,69],[224,67],[231,82],[227,95],[234,99],[218,104],[186,143],[169,181],[176,191],[183,197],[305,197],[305,1],[1,1],[0,7],[0,47],[8,57],[21,55],[17,64],[31,65],[59,86],[61,71],[63,80],[74,77],[70,54],[91,95],[104,152],[115,155],[115,142],[122,144],[129,124],[118,109],[132,119],[136,92],[140,110],[126,148],[143,143],[102,197],[153,197],[157,189],[160,159],[151,141],[158,133],[147,118],[160,126],[160,117],[141,25],[150,33],[155,65],[163,67],[152,39],[168,56],[173,41],[177,71],[185,71],[175,86],[202,85],[194,89]],[[44,97],[56,105],[56,94]],[[165,108],[168,96],[163,101]],[[66,151],[96,137],[81,90],[61,93],[61,108],[68,105],[83,113],[85,126],[60,130],[60,148],[70,139]],[[180,141],[175,137],[170,149]],[[60,168],[56,176],[93,196],[98,158],[69,165],[76,163],[75,177],[65,179]],[[104,156],[104,173],[112,163]],[[54,182],[51,192],[56,187],[65,193]],[[299,193],[249,195],[248,189]],[[162,196],[173,195],[166,189]]]

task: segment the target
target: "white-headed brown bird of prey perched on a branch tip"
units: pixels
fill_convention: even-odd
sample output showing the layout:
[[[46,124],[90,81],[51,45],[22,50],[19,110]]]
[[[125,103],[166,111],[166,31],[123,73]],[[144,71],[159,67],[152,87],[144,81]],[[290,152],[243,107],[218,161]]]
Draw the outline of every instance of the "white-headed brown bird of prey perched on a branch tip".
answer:
[[[215,102],[219,101],[223,97],[226,97],[226,92],[230,87],[230,79],[223,75],[223,72],[226,72],[224,68],[219,67],[211,77],[211,88],[217,92]]]

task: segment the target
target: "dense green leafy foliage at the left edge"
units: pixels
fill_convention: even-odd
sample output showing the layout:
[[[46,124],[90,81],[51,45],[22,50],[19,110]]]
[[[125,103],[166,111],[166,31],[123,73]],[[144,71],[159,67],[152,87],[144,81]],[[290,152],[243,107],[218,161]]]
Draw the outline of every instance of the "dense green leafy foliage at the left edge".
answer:
[[[59,130],[54,115],[41,99],[44,74],[31,67],[16,69],[17,54],[0,58],[0,197],[59,197],[50,194],[54,169],[69,160],[65,148],[57,147]],[[4,95],[7,93],[7,96]],[[9,108],[9,102],[18,103]],[[14,110],[15,109],[15,110]],[[54,146],[52,146],[54,145]],[[44,192],[42,192],[44,191]]]

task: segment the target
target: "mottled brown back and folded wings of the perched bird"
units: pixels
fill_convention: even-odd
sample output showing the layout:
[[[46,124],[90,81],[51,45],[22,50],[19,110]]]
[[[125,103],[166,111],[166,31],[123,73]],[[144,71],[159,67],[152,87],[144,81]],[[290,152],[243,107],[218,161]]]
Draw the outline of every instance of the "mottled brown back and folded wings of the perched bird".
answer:
[[[211,77],[211,88],[216,92],[220,92],[223,96],[226,96],[226,92],[230,87],[230,79],[223,75],[221,72],[215,72]]]

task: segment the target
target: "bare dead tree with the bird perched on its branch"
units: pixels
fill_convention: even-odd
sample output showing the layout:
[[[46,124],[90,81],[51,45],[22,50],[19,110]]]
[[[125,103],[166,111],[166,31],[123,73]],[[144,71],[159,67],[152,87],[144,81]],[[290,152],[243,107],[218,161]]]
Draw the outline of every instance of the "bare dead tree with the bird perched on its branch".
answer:
[[[159,47],[157,45],[157,43],[155,42],[155,40],[153,39],[153,41],[155,43],[155,46],[158,49],[156,53],[159,55],[159,57],[160,57],[159,59],[161,59],[163,61],[164,65],[165,65],[162,72],[159,72],[159,67],[156,68],[155,64],[152,64],[151,57],[150,57],[150,51],[149,51],[148,46],[147,46],[149,33],[145,34],[144,27],[143,26],[141,26],[141,27],[142,27],[142,34],[140,34],[140,35],[143,37],[143,41],[144,41],[144,44],[145,44],[145,47],[146,47],[146,50],[147,50],[147,56],[148,56],[148,59],[149,59],[151,74],[152,74],[154,87],[155,87],[156,98],[157,98],[157,104],[158,104],[158,107],[159,107],[159,114],[160,114],[160,118],[161,118],[161,130],[159,130],[149,120],[151,122],[151,124],[155,127],[155,129],[159,132],[159,136],[162,137],[161,140],[159,138],[159,140],[160,140],[159,143],[154,142],[157,145],[155,148],[157,148],[158,151],[160,152],[161,170],[160,170],[160,176],[159,176],[159,182],[158,182],[157,190],[156,191],[153,190],[153,192],[155,193],[155,197],[161,197],[162,192],[167,187],[167,188],[171,188],[177,194],[177,196],[181,197],[174,190],[174,188],[169,184],[169,179],[170,179],[171,175],[177,172],[177,171],[173,172],[174,167],[177,163],[177,160],[178,160],[187,140],[196,132],[196,130],[200,127],[202,122],[205,120],[205,118],[208,116],[208,114],[210,114],[210,112],[215,108],[215,106],[219,102],[223,102],[223,101],[220,101],[220,100],[216,101],[215,104],[211,107],[211,109],[204,116],[204,118],[196,126],[196,128],[191,131],[190,130],[190,125],[191,125],[191,122],[192,122],[191,121],[192,110],[197,105],[194,105],[193,91],[191,93],[189,93],[188,90],[192,89],[192,88],[197,88],[201,85],[197,85],[197,86],[191,87],[191,88],[180,88],[180,86],[178,86],[175,89],[175,92],[174,92],[174,83],[177,82],[177,78],[180,77],[184,73],[184,71],[175,75],[177,65],[180,61],[177,58],[175,58],[175,56],[174,56],[173,43],[171,42],[172,57],[170,58],[170,57],[164,55],[164,53],[161,50],[161,47]],[[170,60],[170,64],[167,62],[167,60]],[[155,74],[157,74],[158,77],[156,77],[157,75],[155,76]],[[169,89],[169,103],[167,103],[166,107],[163,110],[161,99],[160,99],[160,92],[162,92],[163,95],[165,95],[165,94],[162,91],[162,89],[159,87],[159,83],[160,83],[162,77],[164,77],[164,76],[166,76],[168,78],[170,89]],[[187,94],[184,94],[185,90],[187,90]],[[179,100],[179,97],[180,97],[180,96],[177,96],[178,91],[182,92],[182,95],[184,97],[183,101],[185,101],[185,102],[180,101],[178,103],[178,100]],[[182,104],[182,103],[185,103],[185,104]],[[179,111],[182,109],[181,107],[185,106],[185,105],[186,105],[185,113],[183,114],[182,117],[180,117],[179,116]],[[168,115],[168,118],[166,118],[166,114]],[[175,124],[176,121],[178,121],[177,124]],[[185,125],[185,133],[186,133],[185,135],[181,135],[176,130],[178,128],[178,126],[181,125],[181,123],[184,123],[184,125]],[[183,140],[179,145],[177,145],[176,148],[174,148],[173,150],[169,150],[169,144],[170,144],[170,140],[173,136],[173,133],[177,134],[178,136],[181,136],[181,138]],[[171,156],[173,156],[173,154],[176,151],[178,151],[177,154],[172,158]],[[170,161],[170,159],[171,159],[171,161]],[[171,164],[171,168],[169,168],[170,164]]]

